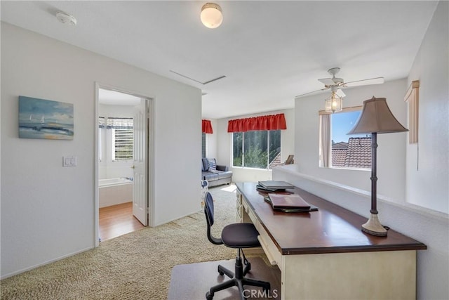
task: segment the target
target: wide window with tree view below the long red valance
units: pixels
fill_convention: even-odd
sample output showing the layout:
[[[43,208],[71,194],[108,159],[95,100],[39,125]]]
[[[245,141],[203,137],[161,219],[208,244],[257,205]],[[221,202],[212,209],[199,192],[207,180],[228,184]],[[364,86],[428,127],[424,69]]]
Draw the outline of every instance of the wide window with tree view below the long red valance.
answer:
[[[271,169],[281,163],[281,131],[246,131],[232,133],[232,165]]]

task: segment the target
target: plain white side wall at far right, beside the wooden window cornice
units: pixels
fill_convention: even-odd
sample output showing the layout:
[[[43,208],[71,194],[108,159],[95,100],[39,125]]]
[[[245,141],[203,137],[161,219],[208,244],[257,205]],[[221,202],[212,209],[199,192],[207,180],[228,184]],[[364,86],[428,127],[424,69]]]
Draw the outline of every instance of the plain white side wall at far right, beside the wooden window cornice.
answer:
[[[446,214],[449,214],[448,11],[448,1],[440,1],[408,76],[408,86],[413,80],[420,80],[420,115],[418,143],[406,144],[408,202]]]

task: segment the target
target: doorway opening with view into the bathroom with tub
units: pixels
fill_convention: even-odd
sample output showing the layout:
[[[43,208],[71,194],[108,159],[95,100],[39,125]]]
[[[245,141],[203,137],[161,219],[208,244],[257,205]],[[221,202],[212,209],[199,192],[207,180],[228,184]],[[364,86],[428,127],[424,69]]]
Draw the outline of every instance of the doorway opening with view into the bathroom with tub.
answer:
[[[149,224],[152,99],[96,85],[95,245]],[[152,126],[151,126],[152,128]]]

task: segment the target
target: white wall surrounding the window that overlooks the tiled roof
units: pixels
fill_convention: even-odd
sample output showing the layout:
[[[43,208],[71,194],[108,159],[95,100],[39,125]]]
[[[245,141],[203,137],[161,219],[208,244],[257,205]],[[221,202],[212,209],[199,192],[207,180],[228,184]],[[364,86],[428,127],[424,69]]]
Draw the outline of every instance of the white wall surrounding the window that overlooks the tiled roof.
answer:
[[[362,105],[375,96],[387,98],[387,104],[398,121],[406,124],[407,104],[403,96],[406,79],[384,84],[345,89],[343,106]],[[319,110],[324,110],[325,96],[316,95],[295,100],[295,164],[304,174],[323,178],[354,188],[370,190],[370,171],[319,167]],[[406,184],[406,135],[385,133],[377,135],[377,194],[393,202],[404,202]],[[391,184],[394,183],[394,184]]]

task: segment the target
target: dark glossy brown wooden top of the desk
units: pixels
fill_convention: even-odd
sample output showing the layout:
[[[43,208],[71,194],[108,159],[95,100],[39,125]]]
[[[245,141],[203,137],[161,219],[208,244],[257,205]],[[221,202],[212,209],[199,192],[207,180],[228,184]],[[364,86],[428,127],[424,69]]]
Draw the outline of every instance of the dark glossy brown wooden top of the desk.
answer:
[[[427,249],[422,242],[391,229],[387,237],[363,233],[361,225],[366,223],[365,217],[300,188],[290,191],[319,211],[274,211],[264,201],[266,194],[256,190],[256,184],[236,183],[236,186],[283,255]]]

